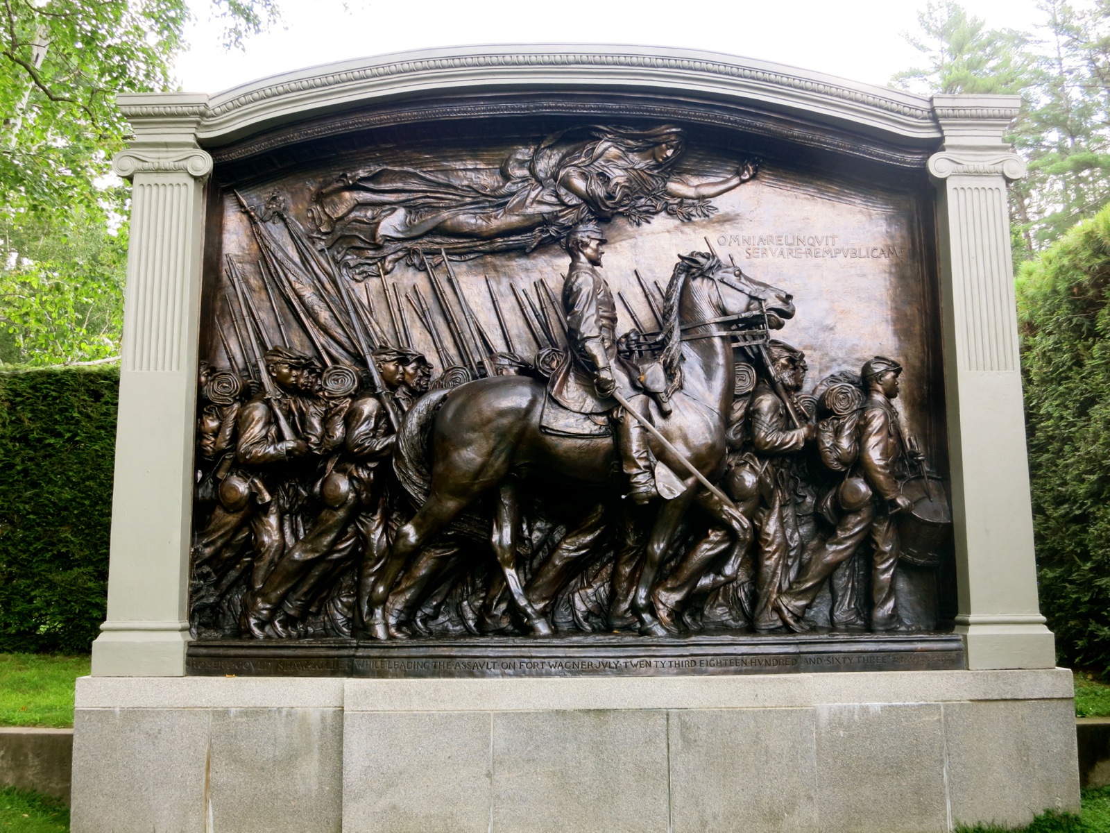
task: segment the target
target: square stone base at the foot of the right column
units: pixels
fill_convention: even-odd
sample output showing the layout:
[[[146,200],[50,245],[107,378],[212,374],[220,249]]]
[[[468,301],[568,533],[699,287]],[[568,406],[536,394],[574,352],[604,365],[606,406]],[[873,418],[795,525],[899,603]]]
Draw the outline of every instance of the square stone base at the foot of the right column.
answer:
[[[1056,638],[1039,613],[956,616],[968,668],[1050,669],[1056,665]]]

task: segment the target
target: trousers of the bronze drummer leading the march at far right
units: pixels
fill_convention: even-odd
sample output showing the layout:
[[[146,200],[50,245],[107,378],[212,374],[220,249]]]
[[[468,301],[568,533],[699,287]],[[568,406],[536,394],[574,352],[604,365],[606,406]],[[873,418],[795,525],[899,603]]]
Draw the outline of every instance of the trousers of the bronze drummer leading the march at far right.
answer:
[[[810,560],[805,572],[779,599],[800,618],[820,592],[821,584],[839,564],[855,554],[868,535],[874,544],[871,564],[871,630],[885,631],[898,623],[895,610],[895,566],[898,564],[898,530],[894,519],[874,501],[847,512],[836,531]]]

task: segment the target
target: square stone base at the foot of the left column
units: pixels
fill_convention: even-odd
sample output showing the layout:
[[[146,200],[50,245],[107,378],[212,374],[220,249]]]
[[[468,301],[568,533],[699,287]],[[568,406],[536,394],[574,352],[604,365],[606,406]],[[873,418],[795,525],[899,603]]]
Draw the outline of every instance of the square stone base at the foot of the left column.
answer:
[[[93,676],[183,676],[189,623],[104,622],[92,643]]]

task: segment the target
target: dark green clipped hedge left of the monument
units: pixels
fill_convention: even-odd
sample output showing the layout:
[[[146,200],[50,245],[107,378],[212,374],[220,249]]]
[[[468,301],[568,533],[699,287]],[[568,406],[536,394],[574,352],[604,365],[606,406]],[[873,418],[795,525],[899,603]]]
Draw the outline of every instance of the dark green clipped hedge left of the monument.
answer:
[[[84,653],[104,620],[119,382],[0,373],[0,652]]]

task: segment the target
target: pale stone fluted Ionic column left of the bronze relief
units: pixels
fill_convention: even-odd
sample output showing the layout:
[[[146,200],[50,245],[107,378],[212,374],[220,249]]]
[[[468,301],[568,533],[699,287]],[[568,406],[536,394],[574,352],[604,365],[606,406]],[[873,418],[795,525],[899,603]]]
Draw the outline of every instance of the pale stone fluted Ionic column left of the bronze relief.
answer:
[[[109,564],[98,676],[184,673],[189,640],[198,307],[204,182],[194,131],[206,96],[120,97],[135,139],[112,167],[132,181]]]

